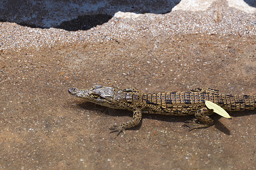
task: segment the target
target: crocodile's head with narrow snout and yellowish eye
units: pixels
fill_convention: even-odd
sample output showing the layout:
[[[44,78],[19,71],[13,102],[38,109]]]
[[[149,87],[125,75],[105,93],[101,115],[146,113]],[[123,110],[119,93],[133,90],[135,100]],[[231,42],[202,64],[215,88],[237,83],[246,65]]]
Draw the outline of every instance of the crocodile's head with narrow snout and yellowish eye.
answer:
[[[112,87],[96,85],[88,90],[72,87],[69,88],[68,92],[73,96],[80,97],[92,103],[103,105],[105,107],[117,108],[114,100],[115,90]]]

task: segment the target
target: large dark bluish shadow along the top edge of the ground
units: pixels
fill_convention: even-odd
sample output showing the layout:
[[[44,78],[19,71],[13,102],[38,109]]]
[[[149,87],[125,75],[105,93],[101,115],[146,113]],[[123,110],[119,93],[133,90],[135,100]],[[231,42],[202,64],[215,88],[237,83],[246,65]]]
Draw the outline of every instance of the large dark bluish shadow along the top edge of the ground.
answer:
[[[86,30],[108,22],[118,11],[137,14],[166,14],[180,0],[173,1],[2,1],[0,22],[14,22],[32,28]]]

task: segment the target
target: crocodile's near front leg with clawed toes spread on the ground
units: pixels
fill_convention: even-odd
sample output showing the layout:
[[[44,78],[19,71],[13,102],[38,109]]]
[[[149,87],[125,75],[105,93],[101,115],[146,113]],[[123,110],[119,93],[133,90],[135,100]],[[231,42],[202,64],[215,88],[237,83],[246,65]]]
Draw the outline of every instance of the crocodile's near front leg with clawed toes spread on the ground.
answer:
[[[119,135],[121,131],[123,131],[123,133],[125,134],[125,129],[129,129],[129,128],[133,128],[134,126],[137,126],[141,121],[141,117],[142,117],[141,109],[139,108],[134,109],[133,120],[119,126],[114,125],[113,128],[110,128],[110,130],[112,130],[110,133],[118,131],[117,135]]]

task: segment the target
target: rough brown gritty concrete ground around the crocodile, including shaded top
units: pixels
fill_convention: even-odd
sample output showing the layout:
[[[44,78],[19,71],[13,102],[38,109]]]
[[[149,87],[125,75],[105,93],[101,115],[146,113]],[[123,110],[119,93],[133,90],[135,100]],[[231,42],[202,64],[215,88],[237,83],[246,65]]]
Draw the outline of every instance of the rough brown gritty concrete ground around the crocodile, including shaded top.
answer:
[[[130,112],[67,92],[255,95],[253,1],[193,1],[199,11],[185,1],[86,1],[88,11],[81,2],[1,1],[1,169],[255,169],[255,111],[212,115],[214,126],[191,132],[181,125],[193,116],[145,114],[116,137],[110,126]]]

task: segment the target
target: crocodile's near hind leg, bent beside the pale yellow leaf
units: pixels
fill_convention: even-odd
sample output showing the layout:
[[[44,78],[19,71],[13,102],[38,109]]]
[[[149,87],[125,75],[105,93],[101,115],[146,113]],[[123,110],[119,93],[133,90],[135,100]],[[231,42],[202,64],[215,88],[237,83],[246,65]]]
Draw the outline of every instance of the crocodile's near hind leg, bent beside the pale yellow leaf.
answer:
[[[213,111],[206,107],[198,109],[195,113],[196,118],[186,121],[183,126],[188,126],[189,131],[193,129],[207,128],[209,126],[212,126],[213,120],[208,116],[212,113]]]

